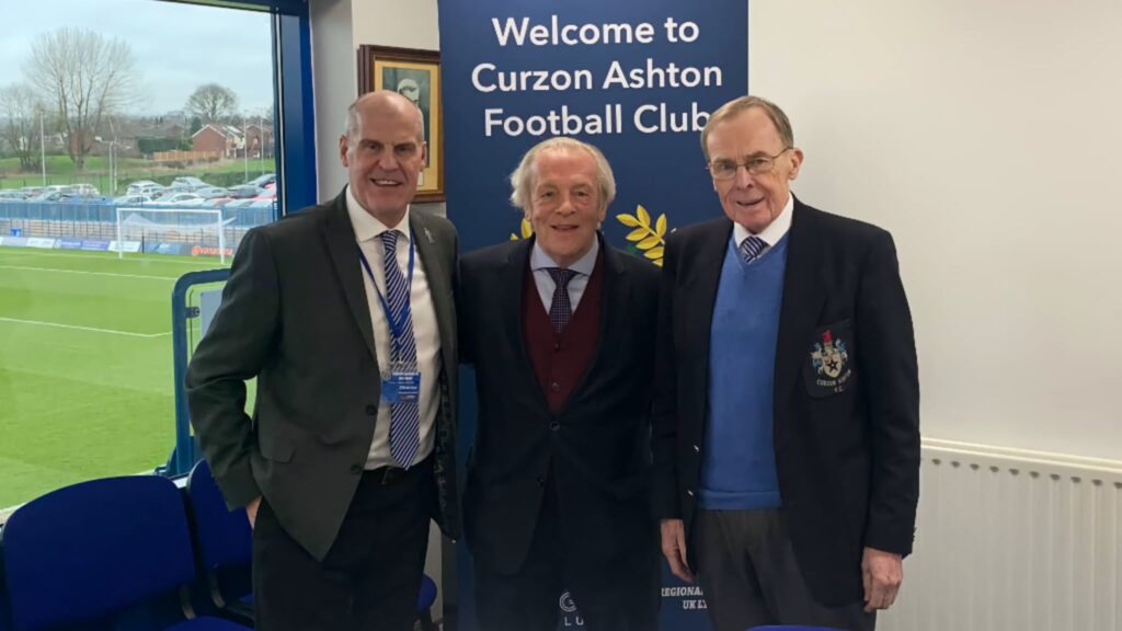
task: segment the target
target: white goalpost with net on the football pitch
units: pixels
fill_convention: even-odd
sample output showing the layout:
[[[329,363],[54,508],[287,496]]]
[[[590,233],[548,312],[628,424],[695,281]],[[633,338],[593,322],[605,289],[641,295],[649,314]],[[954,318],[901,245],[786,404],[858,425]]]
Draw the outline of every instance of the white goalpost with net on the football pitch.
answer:
[[[213,243],[219,259],[226,264],[226,230],[221,210],[197,208],[117,208],[117,257],[125,258],[125,252],[145,252],[149,241],[163,244]],[[128,245],[127,245],[128,244]]]

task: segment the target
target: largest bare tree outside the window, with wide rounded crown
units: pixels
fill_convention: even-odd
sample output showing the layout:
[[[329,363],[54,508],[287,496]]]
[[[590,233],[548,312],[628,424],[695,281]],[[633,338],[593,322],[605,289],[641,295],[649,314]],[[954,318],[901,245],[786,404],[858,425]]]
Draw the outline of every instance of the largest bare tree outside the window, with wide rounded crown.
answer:
[[[92,30],[59,28],[35,38],[26,71],[52,101],[74,168],[82,171],[104,117],[134,95],[131,48]]]

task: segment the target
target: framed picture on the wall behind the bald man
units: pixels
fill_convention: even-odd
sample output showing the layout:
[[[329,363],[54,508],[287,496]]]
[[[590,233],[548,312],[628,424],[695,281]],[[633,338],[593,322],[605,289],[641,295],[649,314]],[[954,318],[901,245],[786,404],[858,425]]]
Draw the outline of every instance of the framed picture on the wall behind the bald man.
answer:
[[[417,203],[444,201],[444,130],[441,117],[440,53],[361,45],[358,93],[393,90],[416,103],[429,153],[417,179]]]

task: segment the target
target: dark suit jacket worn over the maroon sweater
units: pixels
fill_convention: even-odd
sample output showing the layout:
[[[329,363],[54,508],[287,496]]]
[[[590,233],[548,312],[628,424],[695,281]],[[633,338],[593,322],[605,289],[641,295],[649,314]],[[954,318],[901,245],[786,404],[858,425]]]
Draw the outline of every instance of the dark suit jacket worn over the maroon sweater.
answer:
[[[479,396],[465,534],[477,559],[517,571],[552,468],[560,528],[572,541],[564,554],[574,567],[610,570],[613,559],[635,558],[636,546],[656,552],[646,493],[659,272],[601,240],[600,344],[553,414],[522,322],[523,291],[537,291],[524,287],[532,246],[511,241],[460,259],[460,346]]]

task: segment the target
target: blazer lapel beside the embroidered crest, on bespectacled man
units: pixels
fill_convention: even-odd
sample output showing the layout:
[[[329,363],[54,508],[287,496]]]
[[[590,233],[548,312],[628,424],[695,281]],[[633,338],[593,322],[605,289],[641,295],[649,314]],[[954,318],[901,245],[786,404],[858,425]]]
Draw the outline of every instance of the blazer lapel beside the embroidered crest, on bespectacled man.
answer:
[[[822,263],[818,256],[822,235],[817,212],[794,200],[775,345],[776,419],[787,415],[787,394],[798,384],[802,362],[808,360],[815,327],[826,301],[828,287],[822,282]]]

